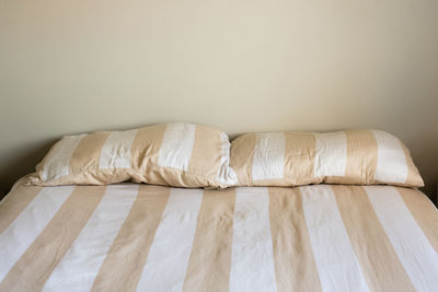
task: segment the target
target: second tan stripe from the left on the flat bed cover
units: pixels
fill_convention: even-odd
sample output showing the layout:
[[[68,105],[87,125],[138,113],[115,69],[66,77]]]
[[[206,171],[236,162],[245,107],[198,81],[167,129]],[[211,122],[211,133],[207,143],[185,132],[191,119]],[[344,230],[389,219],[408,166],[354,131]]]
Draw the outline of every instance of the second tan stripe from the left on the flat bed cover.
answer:
[[[76,187],[0,283],[0,291],[41,291],[97,207],[104,191],[102,186]]]

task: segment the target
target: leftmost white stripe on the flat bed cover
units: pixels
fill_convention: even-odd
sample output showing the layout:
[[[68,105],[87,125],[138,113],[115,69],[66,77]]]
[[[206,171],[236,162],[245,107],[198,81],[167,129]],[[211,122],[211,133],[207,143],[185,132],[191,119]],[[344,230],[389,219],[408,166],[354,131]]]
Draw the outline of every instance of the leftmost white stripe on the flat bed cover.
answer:
[[[43,188],[0,234],[0,281],[50,222],[73,189],[73,186]]]

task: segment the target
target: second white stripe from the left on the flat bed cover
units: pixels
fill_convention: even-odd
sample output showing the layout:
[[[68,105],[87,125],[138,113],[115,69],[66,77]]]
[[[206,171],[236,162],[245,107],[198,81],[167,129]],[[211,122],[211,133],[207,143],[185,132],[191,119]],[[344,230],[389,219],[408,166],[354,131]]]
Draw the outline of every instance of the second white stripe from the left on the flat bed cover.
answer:
[[[89,291],[123,222],[137,198],[138,185],[107,186],[104,197],[44,291]]]

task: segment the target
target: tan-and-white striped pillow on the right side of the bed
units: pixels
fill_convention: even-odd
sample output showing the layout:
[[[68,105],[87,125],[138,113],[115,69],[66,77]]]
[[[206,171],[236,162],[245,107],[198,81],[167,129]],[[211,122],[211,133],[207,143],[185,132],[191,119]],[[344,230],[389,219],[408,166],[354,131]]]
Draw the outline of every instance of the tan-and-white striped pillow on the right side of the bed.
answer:
[[[230,166],[244,186],[424,186],[406,147],[380,130],[247,133],[232,141]]]

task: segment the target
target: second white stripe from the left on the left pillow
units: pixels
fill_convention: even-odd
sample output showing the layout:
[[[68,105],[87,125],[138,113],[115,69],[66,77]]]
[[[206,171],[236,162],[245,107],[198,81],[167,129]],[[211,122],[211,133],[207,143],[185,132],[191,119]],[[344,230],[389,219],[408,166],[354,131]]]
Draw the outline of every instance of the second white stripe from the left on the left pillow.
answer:
[[[101,150],[99,168],[129,168],[130,152],[138,130],[114,131]]]

